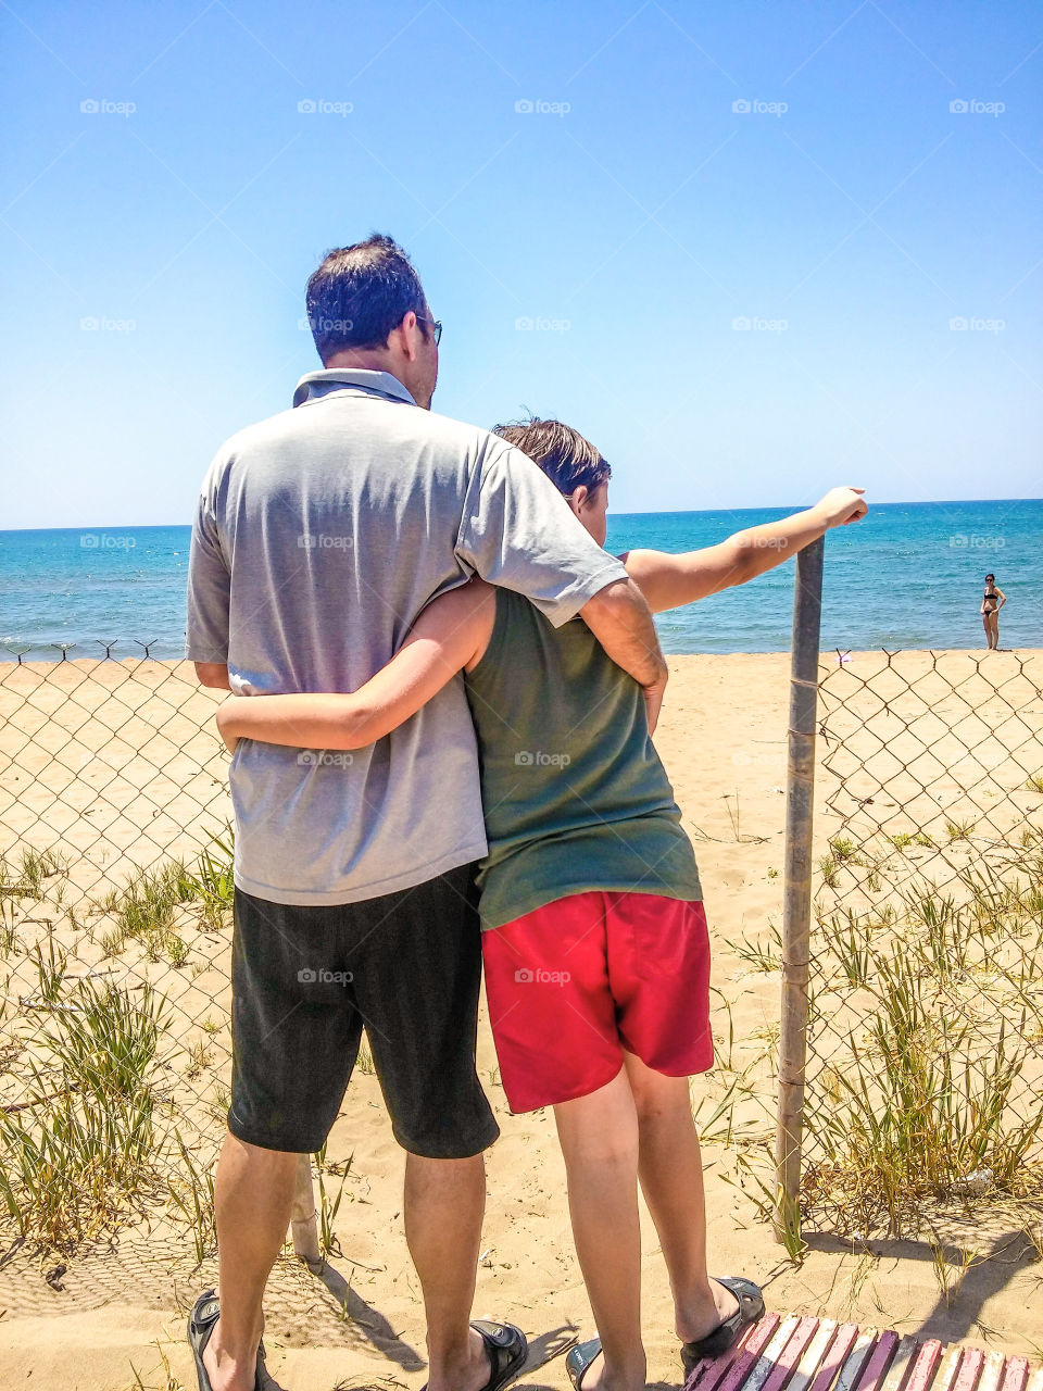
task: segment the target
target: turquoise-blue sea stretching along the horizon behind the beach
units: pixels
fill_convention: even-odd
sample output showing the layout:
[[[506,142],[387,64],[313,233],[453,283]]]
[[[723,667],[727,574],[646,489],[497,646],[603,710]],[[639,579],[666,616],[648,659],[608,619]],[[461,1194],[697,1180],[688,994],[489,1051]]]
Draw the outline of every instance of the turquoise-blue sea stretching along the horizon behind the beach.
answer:
[[[690,551],[786,508],[609,519],[609,548]],[[0,531],[0,661],[184,655],[189,527]],[[982,647],[993,570],[1001,647],[1043,647],[1043,499],[893,502],[826,537],[823,650]],[[658,619],[669,652],[775,652],[790,643],[793,562]]]

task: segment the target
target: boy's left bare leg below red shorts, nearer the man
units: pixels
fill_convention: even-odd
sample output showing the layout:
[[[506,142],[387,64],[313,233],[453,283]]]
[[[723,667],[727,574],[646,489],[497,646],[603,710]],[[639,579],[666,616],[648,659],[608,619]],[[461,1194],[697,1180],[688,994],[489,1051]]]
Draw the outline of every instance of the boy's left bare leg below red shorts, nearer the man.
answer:
[[[590,1096],[553,1109],[569,1175],[576,1255],[587,1285],[604,1359],[581,1391],[640,1391],[641,1228],[637,1213],[637,1113],[624,1068]]]

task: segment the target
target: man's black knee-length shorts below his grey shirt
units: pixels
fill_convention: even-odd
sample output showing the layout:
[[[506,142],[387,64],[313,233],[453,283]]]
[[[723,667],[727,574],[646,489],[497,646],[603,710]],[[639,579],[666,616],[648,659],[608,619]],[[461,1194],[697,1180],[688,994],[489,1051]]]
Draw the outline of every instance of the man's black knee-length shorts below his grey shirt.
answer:
[[[395,1139],[481,1153],[499,1128],[474,1068],[481,942],[474,867],[335,907],[235,892],[228,1127],[261,1149],[320,1149],[362,1031]]]

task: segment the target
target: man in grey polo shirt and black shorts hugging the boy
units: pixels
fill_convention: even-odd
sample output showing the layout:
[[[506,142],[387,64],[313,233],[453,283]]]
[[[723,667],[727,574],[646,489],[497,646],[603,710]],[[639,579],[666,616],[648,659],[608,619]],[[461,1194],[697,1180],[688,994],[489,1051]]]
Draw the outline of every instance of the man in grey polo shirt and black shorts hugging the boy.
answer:
[[[424,605],[480,574],[560,625],[580,613],[645,690],[666,682],[648,605],[517,449],[430,412],[441,325],[388,236],[331,252],[307,287],[323,370],[234,435],[203,483],[188,655],[239,694],[353,690]],[[202,1391],[252,1391],[261,1298],[296,1155],[321,1146],[366,1025],[396,1139],[427,1316],[430,1391],[496,1391],[512,1326],[469,1326],[496,1125],[474,1071],[485,851],[460,677],[350,757],[243,741],[234,1064],[217,1170],[220,1305],[189,1334]]]

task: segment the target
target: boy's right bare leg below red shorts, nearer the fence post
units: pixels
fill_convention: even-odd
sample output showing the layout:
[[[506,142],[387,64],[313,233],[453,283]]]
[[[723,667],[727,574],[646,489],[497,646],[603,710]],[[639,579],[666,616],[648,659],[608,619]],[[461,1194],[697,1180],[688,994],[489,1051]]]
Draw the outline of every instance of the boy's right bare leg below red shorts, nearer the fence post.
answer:
[[[736,1296],[706,1271],[706,1203],[702,1156],[687,1077],[663,1077],[626,1054],[640,1134],[641,1189],[670,1276],[677,1337],[705,1338],[738,1309]]]

